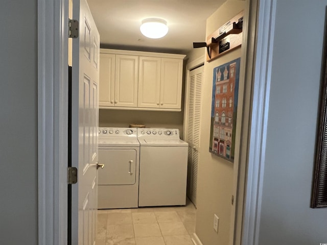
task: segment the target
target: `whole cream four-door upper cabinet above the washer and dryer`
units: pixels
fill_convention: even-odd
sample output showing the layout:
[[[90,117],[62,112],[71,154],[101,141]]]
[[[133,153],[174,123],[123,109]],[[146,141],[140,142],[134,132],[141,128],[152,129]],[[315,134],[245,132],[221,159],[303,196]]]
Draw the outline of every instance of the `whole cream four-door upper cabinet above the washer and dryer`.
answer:
[[[100,52],[100,108],[181,110],[184,55]]]

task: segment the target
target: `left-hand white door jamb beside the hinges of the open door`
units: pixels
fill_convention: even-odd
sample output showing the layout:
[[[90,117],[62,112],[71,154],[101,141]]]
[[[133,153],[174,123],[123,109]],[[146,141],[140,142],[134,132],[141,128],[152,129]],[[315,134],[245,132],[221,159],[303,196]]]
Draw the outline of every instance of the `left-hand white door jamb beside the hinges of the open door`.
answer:
[[[37,1],[38,244],[67,244],[68,1]]]

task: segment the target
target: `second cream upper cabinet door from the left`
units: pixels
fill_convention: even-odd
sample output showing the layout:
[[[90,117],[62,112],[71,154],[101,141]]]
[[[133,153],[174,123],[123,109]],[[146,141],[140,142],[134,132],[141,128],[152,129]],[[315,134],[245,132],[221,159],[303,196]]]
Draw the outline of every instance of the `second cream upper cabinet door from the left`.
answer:
[[[114,104],[137,107],[138,56],[115,56]]]

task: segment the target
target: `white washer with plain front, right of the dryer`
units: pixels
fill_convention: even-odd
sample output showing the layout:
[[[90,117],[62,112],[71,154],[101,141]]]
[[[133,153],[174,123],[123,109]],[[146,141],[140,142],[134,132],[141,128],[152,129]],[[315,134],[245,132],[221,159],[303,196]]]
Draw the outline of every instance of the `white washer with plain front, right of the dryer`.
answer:
[[[185,205],[188,143],[178,129],[137,129],[138,206]]]

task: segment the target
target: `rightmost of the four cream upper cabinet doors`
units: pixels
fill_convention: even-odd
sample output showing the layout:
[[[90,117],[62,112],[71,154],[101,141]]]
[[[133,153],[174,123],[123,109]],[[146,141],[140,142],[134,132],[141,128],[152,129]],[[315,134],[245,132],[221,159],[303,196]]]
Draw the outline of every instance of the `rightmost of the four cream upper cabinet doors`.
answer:
[[[161,59],[160,108],[180,109],[183,61]]]

